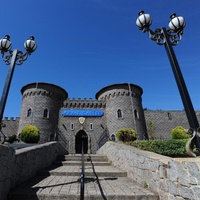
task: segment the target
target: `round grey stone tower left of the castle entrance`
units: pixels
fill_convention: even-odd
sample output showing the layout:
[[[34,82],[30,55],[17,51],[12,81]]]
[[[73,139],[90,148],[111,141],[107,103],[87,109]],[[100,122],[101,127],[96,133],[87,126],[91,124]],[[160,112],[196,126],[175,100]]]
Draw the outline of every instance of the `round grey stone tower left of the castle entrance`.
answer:
[[[68,93],[61,87],[48,83],[31,83],[21,89],[23,96],[18,133],[28,125],[40,131],[40,143],[54,137],[59,110]]]

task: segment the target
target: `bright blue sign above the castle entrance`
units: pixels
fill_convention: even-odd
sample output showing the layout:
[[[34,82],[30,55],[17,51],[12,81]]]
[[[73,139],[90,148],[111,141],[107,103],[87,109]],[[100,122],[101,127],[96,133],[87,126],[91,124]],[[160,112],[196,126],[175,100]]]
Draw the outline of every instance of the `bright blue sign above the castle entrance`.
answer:
[[[62,110],[64,117],[101,117],[103,115],[102,110]]]

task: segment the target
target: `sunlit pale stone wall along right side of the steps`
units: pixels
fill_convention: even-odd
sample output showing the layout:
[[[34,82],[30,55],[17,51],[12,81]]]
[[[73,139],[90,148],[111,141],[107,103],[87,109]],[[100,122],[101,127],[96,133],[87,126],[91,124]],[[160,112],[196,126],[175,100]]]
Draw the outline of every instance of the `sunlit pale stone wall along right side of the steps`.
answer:
[[[108,156],[161,200],[200,199],[200,158],[170,158],[114,142],[107,142],[97,154]]]

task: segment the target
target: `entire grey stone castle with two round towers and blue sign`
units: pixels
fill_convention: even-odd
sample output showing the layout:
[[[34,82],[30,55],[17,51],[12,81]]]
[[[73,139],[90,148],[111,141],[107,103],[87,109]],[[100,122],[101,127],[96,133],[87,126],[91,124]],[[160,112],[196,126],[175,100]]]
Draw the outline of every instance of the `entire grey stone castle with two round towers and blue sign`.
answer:
[[[176,126],[189,128],[184,111],[144,110],[143,90],[131,83],[106,86],[96,100],[69,99],[63,88],[43,82],[27,84],[21,93],[20,117],[3,119],[5,134],[19,134],[32,124],[40,143],[57,140],[69,153],[81,153],[83,142],[85,153],[95,153],[123,127],[134,129],[138,139],[165,139]]]

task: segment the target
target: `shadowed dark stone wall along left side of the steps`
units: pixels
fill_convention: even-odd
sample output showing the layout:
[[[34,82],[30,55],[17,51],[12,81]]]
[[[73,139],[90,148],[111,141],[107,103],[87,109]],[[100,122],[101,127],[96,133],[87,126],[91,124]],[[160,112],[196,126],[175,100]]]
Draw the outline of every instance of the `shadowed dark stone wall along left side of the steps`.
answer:
[[[0,145],[0,198],[7,199],[11,188],[35,176],[37,171],[48,167],[59,154],[64,154],[57,142],[15,150]]]

